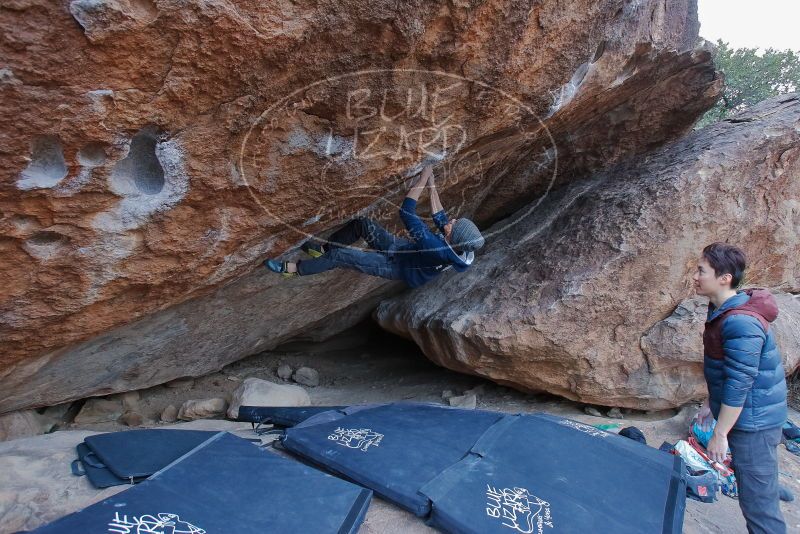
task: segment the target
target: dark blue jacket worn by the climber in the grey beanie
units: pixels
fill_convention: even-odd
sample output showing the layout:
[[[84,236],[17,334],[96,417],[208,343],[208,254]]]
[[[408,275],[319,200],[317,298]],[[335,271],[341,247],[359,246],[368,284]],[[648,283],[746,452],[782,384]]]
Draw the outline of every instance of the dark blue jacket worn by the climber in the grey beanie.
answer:
[[[404,281],[410,287],[419,287],[451,266],[458,272],[466,271],[475,257],[473,252],[458,255],[445,241],[443,228],[447,214],[439,210],[433,221],[439,232],[433,233],[417,215],[417,201],[406,197],[400,206],[400,219],[411,236],[411,241],[397,247],[395,258],[402,267]]]

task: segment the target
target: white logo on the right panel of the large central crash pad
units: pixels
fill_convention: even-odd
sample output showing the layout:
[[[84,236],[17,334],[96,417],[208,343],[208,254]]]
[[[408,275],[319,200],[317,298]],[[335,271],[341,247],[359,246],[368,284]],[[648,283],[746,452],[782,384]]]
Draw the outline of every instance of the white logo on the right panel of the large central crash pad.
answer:
[[[527,488],[498,489],[486,484],[486,515],[523,534],[541,534],[545,527],[553,528],[550,503]]]

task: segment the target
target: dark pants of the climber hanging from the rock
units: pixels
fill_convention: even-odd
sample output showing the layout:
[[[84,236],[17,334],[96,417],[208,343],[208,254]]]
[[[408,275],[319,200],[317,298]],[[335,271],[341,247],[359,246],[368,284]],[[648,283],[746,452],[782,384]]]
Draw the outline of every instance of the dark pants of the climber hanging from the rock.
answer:
[[[374,251],[349,247],[363,238]],[[393,252],[410,243],[398,237],[368,217],[356,217],[336,230],[325,243],[325,254],[319,258],[301,260],[297,271],[305,276],[330,269],[343,268],[390,280],[402,280],[403,275]]]

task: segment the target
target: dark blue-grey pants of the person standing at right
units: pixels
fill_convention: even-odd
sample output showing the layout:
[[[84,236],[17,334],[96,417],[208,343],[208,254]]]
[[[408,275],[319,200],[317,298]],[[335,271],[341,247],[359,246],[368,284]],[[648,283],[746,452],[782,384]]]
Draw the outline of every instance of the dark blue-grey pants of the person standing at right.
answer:
[[[731,430],[728,445],[742,509],[750,534],[785,534],[778,494],[781,427],[757,432]]]

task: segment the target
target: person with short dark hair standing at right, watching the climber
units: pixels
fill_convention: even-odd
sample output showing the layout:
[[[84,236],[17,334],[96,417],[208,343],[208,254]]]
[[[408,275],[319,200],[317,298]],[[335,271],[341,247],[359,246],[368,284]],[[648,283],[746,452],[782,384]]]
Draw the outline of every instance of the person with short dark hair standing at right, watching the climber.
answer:
[[[745,266],[741,249],[713,243],[693,277],[697,294],[709,299],[703,332],[708,399],[698,422],[707,430],[717,419],[708,442],[713,460],[722,462],[730,446],[747,531],[783,534],[777,446],[788,417],[786,379],[769,324],[778,306],[765,289],[737,290]]]

